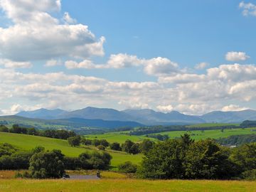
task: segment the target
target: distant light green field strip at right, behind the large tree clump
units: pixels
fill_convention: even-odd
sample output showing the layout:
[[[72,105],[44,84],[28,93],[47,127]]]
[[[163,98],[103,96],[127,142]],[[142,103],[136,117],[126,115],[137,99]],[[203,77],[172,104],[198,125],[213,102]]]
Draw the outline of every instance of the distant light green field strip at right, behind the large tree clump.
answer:
[[[237,135],[237,134],[256,134],[256,132],[252,132],[251,130],[256,128],[246,128],[246,129],[224,129],[224,132],[221,132],[220,129],[216,130],[205,130],[205,131],[191,131],[188,132],[191,134],[192,139],[218,139],[220,137],[229,137],[231,135]],[[178,131],[178,132],[161,132],[160,134],[168,134],[171,139],[174,139],[176,137],[181,137],[181,134],[186,133]]]

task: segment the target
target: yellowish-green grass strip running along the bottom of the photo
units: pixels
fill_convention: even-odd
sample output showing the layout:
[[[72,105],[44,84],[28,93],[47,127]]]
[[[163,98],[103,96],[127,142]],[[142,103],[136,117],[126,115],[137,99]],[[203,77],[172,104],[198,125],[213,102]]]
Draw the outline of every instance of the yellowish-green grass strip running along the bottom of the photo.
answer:
[[[136,179],[2,179],[0,191],[256,191],[255,181],[149,181]]]

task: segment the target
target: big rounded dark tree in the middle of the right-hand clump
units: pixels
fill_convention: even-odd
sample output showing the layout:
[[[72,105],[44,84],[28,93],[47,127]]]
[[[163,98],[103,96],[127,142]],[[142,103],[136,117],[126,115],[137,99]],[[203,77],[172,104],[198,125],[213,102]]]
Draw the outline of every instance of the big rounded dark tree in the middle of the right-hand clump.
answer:
[[[184,160],[186,178],[230,178],[235,176],[237,170],[228,159],[228,154],[212,139],[192,143]]]

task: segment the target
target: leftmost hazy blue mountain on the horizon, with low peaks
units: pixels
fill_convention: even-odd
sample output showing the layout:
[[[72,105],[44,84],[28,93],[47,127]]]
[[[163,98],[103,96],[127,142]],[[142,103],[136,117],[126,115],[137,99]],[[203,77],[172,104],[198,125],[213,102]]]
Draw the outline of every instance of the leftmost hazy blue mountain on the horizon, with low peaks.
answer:
[[[46,110],[46,109],[39,109],[34,111],[22,111],[18,112],[16,115],[21,117],[28,117],[34,119],[56,119],[56,117],[65,114],[66,111],[64,110]]]

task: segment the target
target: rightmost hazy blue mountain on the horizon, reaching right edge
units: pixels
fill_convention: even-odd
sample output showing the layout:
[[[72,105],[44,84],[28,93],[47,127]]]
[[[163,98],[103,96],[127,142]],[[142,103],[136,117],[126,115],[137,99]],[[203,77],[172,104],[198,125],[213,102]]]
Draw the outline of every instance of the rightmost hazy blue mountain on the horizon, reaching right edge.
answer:
[[[255,110],[242,110],[238,112],[209,112],[201,115],[206,122],[243,122],[245,120],[256,120]]]

